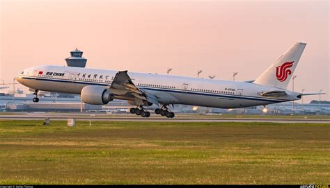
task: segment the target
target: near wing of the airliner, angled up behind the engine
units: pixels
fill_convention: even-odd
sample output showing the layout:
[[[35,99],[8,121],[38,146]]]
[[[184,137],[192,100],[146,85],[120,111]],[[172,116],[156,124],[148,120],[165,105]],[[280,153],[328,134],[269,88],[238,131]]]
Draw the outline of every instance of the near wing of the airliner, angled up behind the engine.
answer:
[[[119,96],[118,99],[133,99],[137,105],[143,105],[144,101],[159,104],[156,96],[134,85],[127,71],[118,71],[110,85],[110,91],[117,97]]]

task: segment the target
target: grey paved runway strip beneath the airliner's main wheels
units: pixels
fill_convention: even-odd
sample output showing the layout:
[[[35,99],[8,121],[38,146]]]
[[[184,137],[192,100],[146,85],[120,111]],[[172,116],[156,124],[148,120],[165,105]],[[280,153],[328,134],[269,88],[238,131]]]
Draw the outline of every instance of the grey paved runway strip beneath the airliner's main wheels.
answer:
[[[0,120],[43,120],[49,117],[51,120],[77,119],[81,121],[172,121],[172,122],[272,122],[272,123],[330,123],[330,119],[308,119],[308,118],[241,118],[241,117],[199,117],[180,116],[173,119],[156,116],[143,118],[131,114],[56,114],[56,113],[29,113],[0,115]]]

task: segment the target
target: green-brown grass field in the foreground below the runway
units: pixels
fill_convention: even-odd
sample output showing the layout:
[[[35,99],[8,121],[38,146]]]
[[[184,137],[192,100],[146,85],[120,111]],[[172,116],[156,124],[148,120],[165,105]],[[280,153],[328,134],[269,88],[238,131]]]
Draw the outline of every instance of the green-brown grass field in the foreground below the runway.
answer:
[[[0,121],[0,184],[329,181],[329,124]]]

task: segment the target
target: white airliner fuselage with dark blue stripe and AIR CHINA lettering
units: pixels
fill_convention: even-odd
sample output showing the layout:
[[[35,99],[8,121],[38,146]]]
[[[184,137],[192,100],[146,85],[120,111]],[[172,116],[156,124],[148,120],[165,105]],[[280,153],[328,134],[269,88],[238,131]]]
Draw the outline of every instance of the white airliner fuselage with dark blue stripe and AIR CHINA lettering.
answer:
[[[40,66],[24,70],[17,76],[17,80],[32,89],[81,94],[81,89],[87,85],[109,87],[117,72],[104,69]],[[285,89],[281,89],[288,94],[285,96],[261,96],[261,92],[279,88],[253,83],[134,72],[128,74],[136,87],[157,96],[159,103],[166,105],[242,108],[299,99],[298,93]]]

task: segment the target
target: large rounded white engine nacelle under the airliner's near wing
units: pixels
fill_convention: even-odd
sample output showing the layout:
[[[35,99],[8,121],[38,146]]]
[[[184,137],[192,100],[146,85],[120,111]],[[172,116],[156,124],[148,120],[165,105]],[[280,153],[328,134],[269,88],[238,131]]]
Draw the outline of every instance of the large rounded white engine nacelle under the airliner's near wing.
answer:
[[[105,105],[114,99],[106,87],[88,85],[81,89],[81,101],[90,105]]]

